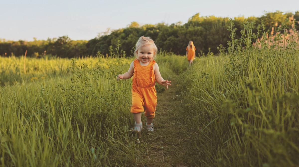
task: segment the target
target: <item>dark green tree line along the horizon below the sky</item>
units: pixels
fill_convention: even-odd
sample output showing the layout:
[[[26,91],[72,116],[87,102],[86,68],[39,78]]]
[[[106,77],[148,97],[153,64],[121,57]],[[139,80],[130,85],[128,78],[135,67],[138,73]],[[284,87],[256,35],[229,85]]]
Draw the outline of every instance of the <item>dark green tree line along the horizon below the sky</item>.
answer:
[[[264,22],[269,35],[272,27],[278,27],[286,18],[292,18],[295,25],[299,23],[299,11],[284,13],[281,11],[265,13],[261,17],[243,16],[233,18],[238,29],[236,38],[240,38],[240,30],[244,28],[243,21],[255,21],[256,26]],[[149,36],[156,41],[159,51],[173,52],[174,54],[186,53],[185,49],[189,40],[194,42],[197,53],[205,55],[208,52],[217,54],[217,47],[225,50],[230,32],[228,26],[230,18],[215,16],[200,16],[199,13],[188,19],[188,22],[173,24],[145,24],[139,25],[132,22],[126,28],[107,31],[91,40],[71,40],[68,36],[48,38],[47,40],[33,41],[7,41],[0,39],[1,56],[21,56],[27,50],[27,56],[43,57],[81,57],[81,56],[132,56],[136,41],[140,36]],[[274,29],[275,31],[275,29]],[[272,32],[273,33],[273,32]],[[253,41],[255,42],[255,41]]]

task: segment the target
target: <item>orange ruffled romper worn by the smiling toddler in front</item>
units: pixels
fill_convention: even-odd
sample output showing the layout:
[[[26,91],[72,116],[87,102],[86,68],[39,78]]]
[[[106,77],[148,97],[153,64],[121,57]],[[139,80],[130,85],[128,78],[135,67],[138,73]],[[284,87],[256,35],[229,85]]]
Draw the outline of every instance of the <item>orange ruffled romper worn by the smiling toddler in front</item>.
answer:
[[[147,66],[142,66],[139,60],[134,60],[131,113],[144,111],[147,118],[155,117],[157,106],[156,80],[153,70],[155,63],[155,60],[152,60]]]

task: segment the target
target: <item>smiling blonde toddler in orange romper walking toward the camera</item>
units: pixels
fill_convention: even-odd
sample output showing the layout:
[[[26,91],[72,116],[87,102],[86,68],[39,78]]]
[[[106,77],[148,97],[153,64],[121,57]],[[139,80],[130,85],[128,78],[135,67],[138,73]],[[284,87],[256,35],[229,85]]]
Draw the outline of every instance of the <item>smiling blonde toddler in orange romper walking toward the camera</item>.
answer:
[[[134,131],[140,133],[142,130],[141,113],[147,117],[146,128],[154,131],[152,120],[155,117],[157,105],[157,92],[155,83],[161,85],[171,85],[168,80],[164,80],[159,72],[159,66],[155,62],[157,46],[149,37],[140,37],[136,43],[134,55],[136,59],[131,63],[128,72],[119,74],[118,79],[132,79],[132,107],[135,119]]]

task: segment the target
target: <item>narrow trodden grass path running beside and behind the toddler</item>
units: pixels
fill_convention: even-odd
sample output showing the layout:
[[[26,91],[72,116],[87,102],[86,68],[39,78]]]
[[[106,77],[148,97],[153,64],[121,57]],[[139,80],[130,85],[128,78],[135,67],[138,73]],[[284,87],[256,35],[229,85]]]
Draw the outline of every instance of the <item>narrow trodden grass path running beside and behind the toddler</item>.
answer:
[[[173,76],[172,78],[178,78]],[[155,131],[148,132],[145,128],[139,137],[147,152],[143,153],[142,164],[137,166],[176,166],[187,167],[184,163],[187,137],[181,131],[184,128],[181,102],[176,100],[176,85],[174,79],[169,89],[158,93],[158,104],[153,121]],[[145,126],[146,119],[142,116]]]

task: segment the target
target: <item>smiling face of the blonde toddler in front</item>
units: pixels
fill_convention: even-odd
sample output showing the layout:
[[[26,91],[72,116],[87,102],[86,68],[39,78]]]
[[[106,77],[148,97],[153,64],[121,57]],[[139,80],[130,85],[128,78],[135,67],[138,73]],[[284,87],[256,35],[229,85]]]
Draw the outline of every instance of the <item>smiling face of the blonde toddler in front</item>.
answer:
[[[136,52],[141,65],[148,65],[154,57],[154,48],[151,45],[141,46]]]

